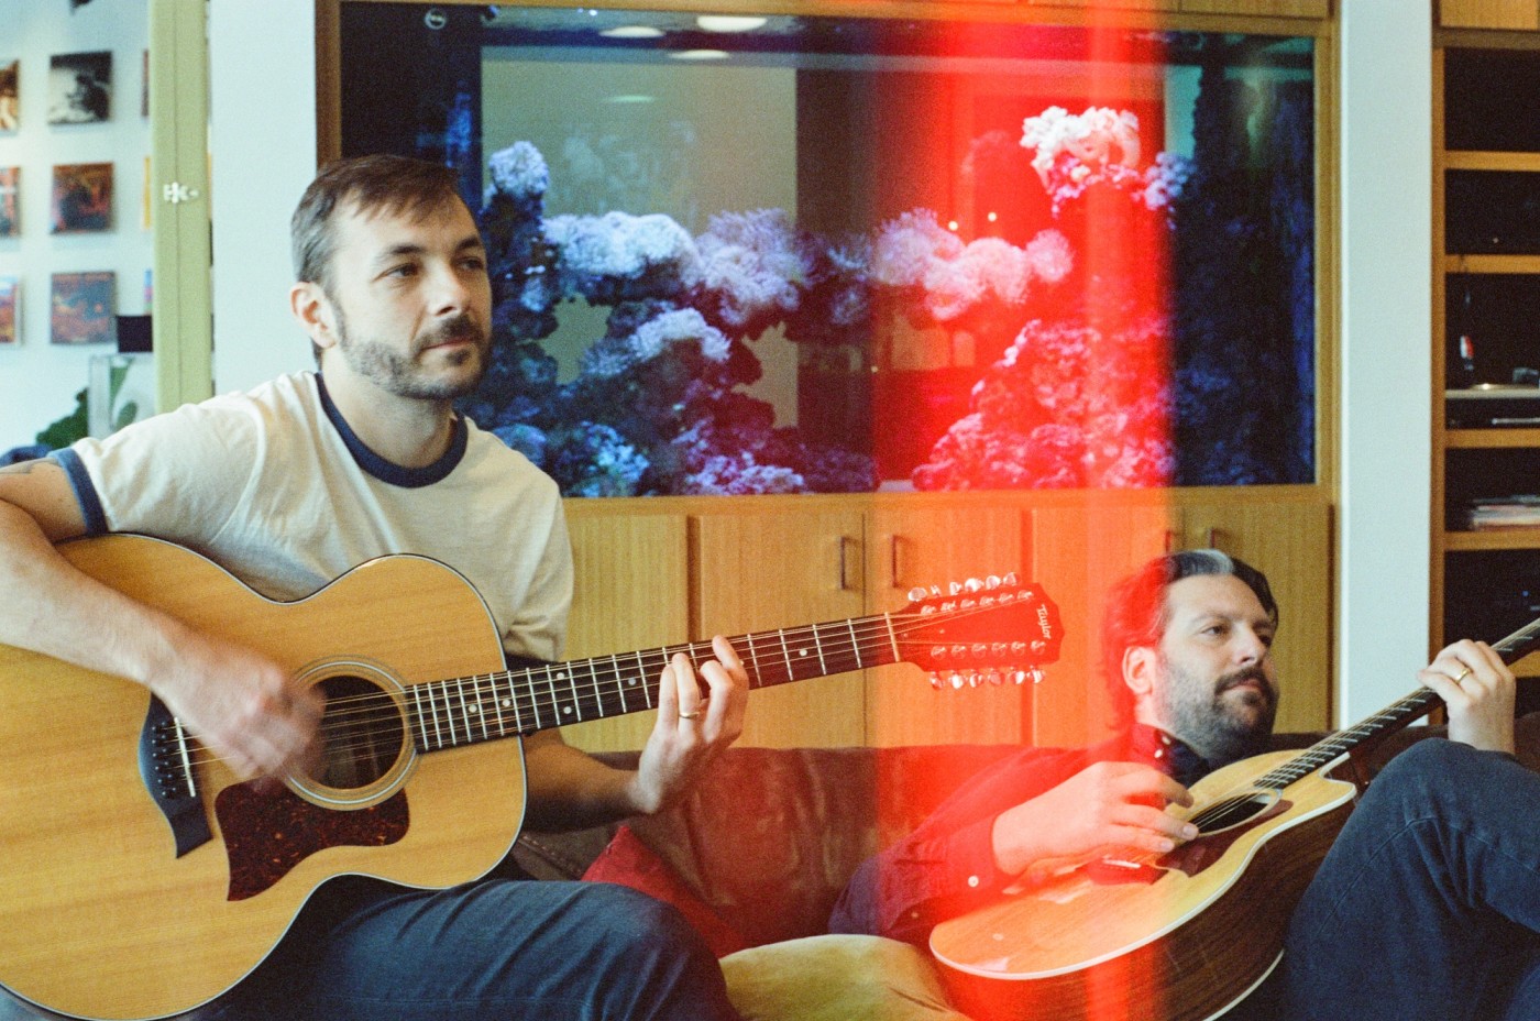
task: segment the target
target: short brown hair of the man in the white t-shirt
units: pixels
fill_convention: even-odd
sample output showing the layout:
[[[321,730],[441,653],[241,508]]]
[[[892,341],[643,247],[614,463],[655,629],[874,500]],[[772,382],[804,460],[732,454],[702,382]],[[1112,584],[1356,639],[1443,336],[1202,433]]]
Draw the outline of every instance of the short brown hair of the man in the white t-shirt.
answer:
[[[333,214],[351,202],[362,213],[427,216],[462,202],[454,169],[405,156],[357,156],[328,163],[310,183],[290,220],[294,279],[319,283],[330,294],[336,248]]]

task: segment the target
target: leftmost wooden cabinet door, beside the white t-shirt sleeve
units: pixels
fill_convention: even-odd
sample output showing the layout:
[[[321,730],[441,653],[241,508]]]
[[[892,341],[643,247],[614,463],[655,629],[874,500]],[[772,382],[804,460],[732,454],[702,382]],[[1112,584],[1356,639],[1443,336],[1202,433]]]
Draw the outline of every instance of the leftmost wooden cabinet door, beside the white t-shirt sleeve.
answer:
[[[688,544],[684,514],[568,514],[573,614],[567,659],[684,642],[690,634]],[[654,711],[574,724],[568,744],[588,752],[641,748]]]

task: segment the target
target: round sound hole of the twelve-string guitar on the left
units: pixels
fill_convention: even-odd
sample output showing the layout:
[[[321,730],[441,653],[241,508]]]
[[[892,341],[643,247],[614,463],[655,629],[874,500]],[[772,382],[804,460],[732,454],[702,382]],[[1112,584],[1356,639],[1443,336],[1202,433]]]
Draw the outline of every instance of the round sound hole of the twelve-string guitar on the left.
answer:
[[[367,787],[385,776],[407,747],[407,730],[394,699],[379,685],[354,676],[320,682],[326,698],[322,718],[325,750],[310,776],[333,790]]]

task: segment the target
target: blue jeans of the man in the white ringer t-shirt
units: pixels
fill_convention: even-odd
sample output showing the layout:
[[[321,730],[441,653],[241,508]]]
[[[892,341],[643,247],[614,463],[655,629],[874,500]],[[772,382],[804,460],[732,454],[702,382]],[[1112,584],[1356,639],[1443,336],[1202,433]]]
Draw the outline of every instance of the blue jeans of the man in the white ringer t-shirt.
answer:
[[[211,1012],[228,1021],[736,1021],[671,907],[605,882],[334,879]]]

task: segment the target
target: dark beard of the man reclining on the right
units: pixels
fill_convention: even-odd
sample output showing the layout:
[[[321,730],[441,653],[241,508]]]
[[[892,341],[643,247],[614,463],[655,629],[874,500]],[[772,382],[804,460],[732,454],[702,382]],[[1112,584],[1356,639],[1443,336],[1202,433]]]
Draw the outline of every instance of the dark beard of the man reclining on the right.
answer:
[[[1247,667],[1204,681],[1161,658],[1164,685],[1161,718],[1209,765],[1249,758],[1267,750],[1278,715],[1278,691],[1261,667]],[[1255,682],[1258,687],[1241,687]]]

